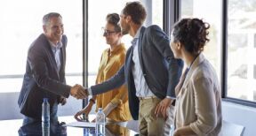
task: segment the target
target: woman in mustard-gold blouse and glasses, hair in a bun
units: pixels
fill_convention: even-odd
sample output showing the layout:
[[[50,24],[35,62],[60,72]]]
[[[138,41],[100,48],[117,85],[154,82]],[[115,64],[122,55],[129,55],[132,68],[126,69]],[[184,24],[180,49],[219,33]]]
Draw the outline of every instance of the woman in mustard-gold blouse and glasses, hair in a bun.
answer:
[[[119,19],[119,15],[116,13],[107,16],[103,36],[110,48],[105,49],[102,53],[96,84],[111,78],[124,64],[126,49],[124,43],[121,43],[122,34],[121,27],[118,25]],[[122,86],[107,93],[92,96],[87,107],[76,113],[76,120],[81,120],[80,115],[83,113],[88,115],[95,101],[97,102],[96,111],[102,108],[108,120],[116,122],[131,120],[127,93],[127,88]]]

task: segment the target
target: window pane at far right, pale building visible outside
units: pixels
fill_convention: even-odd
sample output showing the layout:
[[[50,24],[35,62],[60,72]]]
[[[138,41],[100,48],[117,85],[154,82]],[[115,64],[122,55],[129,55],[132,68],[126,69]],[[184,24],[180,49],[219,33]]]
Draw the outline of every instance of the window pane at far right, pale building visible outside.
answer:
[[[256,102],[256,1],[228,1],[227,96]]]

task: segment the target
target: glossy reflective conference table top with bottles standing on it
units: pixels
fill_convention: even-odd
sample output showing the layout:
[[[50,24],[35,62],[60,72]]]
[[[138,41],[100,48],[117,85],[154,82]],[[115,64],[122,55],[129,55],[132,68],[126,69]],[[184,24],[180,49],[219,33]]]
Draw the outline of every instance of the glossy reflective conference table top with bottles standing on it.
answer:
[[[74,117],[59,117],[60,124],[50,125],[51,136],[94,136],[95,127],[71,127],[66,126],[76,122]],[[1,127],[2,126],[2,127]],[[136,121],[131,122],[107,122],[106,136],[134,136],[139,135]],[[42,136],[42,123],[34,123],[22,126],[22,119],[0,121],[1,135],[4,136]]]

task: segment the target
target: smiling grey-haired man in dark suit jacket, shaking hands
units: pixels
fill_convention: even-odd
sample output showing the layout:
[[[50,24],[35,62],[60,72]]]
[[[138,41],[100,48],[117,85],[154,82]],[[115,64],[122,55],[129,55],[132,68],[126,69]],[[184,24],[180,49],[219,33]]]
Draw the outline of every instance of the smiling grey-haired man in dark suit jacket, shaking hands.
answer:
[[[20,113],[23,125],[42,118],[43,98],[50,103],[52,123],[58,122],[58,104],[64,105],[69,94],[77,99],[86,96],[82,87],[66,85],[65,64],[67,37],[63,34],[62,17],[50,12],[43,18],[44,34],[39,35],[28,49],[26,73],[20,90]]]

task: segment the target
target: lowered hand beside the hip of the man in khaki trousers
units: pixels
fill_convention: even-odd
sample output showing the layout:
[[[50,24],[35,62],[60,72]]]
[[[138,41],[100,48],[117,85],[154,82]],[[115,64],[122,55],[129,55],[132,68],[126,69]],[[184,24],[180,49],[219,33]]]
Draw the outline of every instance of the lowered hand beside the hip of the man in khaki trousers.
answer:
[[[171,98],[164,98],[161,102],[156,105],[155,114],[158,117],[160,114],[163,115],[164,118],[168,117],[167,109],[171,106],[172,99]]]

